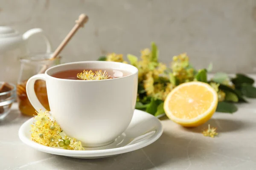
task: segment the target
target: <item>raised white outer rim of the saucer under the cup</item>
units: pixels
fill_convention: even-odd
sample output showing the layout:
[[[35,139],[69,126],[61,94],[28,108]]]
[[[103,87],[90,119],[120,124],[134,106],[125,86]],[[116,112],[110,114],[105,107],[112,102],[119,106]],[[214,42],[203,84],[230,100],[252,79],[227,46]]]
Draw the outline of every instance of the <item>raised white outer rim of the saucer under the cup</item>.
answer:
[[[25,128],[31,124],[33,117],[30,118],[29,120],[27,120],[26,122],[24,122],[20,126],[19,138],[24,144],[28,145],[29,147],[35,148],[36,150],[40,150],[42,152],[51,153],[51,154],[55,154],[55,155],[62,155],[62,156],[76,156],[76,157],[97,156],[98,157],[98,156],[110,156],[110,155],[117,155],[117,154],[121,154],[121,153],[127,153],[127,152],[131,152],[131,151],[143,148],[145,146],[148,146],[149,144],[151,144],[151,143],[155,142],[157,139],[159,139],[163,133],[163,125],[160,122],[160,120],[157,119],[155,116],[153,116],[149,113],[146,113],[145,111],[140,111],[137,109],[134,110],[134,114],[146,114],[146,116],[154,117],[155,122],[157,124],[156,129],[155,129],[156,133],[154,133],[154,135],[152,135],[148,139],[137,142],[135,144],[126,145],[123,147],[116,147],[116,148],[103,149],[103,150],[64,150],[64,149],[60,149],[60,148],[47,147],[42,144],[33,142],[32,140],[30,140],[26,137]]]

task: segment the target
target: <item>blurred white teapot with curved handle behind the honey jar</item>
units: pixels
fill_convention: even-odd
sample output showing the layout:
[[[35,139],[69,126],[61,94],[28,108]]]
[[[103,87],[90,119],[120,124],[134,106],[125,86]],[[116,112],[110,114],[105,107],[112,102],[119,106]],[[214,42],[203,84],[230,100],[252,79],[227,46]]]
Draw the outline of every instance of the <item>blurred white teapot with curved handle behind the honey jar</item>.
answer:
[[[16,84],[20,71],[19,58],[29,53],[27,41],[29,37],[41,34],[46,43],[46,52],[52,51],[51,44],[41,28],[33,28],[19,34],[13,28],[0,26],[0,82]]]

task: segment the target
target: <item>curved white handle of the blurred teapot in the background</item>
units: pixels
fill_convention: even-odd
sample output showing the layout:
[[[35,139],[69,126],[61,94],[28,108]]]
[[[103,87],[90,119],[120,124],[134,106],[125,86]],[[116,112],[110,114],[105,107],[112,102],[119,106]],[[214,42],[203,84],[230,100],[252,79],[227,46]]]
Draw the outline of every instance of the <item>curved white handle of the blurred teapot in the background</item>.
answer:
[[[23,40],[28,40],[32,35],[35,35],[35,34],[41,34],[43,36],[44,42],[46,43],[46,52],[47,53],[52,52],[52,45],[51,45],[49,39],[44,34],[44,31],[41,28],[32,28],[32,29],[26,31],[22,35]]]

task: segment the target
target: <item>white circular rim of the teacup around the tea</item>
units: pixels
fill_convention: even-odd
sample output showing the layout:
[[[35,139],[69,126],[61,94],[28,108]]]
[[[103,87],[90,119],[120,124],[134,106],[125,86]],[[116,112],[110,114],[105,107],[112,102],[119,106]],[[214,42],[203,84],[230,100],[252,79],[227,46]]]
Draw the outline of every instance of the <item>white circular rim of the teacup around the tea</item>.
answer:
[[[81,81],[81,80],[74,80],[74,79],[60,79],[60,78],[56,78],[56,77],[52,77],[51,75],[48,74],[48,71],[54,69],[54,68],[58,68],[58,67],[62,67],[63,65],[72,65],[72,64],[79,64],[79,63],[115,63],[115,64],[119,64],[119,65],[129,65],[129,67],[131,67],[132,69],[135,69],[134,73],[131,73],[129,74],[128,76],[124,76],[124,77],[118,77],[118,78],[114,78],[114,79],[101,79],[101,80],[86,80],[86,81]],[[137,67],[135,67],[134,65],[130,65],[130,64],[126,64],[126,63],[122,63],[122,62],[113,62],[113,61],[79,61],[79,62],[68,62],[68,63],[65,63],[65,64],[60,64],[60,65],[55,65],[51,68],[48,68],[44,74],[46,76],[49,76],[51,78],[54,78],[54,79],[58,79],[58,80],[61,80],[61,81],[69,81],[69,82],[103,82],[103,81],[113,81],[113,80],[117,80],[117,79],[123,79],[123,78],[126,78],[126,77],[130,77],[130,76],[133,76],[135,74],[138,74],[139,70]]]

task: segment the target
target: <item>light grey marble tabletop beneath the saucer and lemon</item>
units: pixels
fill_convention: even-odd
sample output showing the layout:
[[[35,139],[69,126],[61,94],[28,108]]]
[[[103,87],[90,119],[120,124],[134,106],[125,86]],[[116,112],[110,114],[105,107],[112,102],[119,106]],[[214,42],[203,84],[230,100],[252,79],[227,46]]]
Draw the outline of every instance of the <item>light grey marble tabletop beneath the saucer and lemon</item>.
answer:
[[[207,124],[183,128],[161,120],[163,135],[153,144],[105,159],[72,159],[32,149],[18,137],[29,117],[17,104],[0,122],[0,170],[256,170],[256,100],[239,105],[233,114],[215,113],[208,121],[219,136],[204,137]]]

